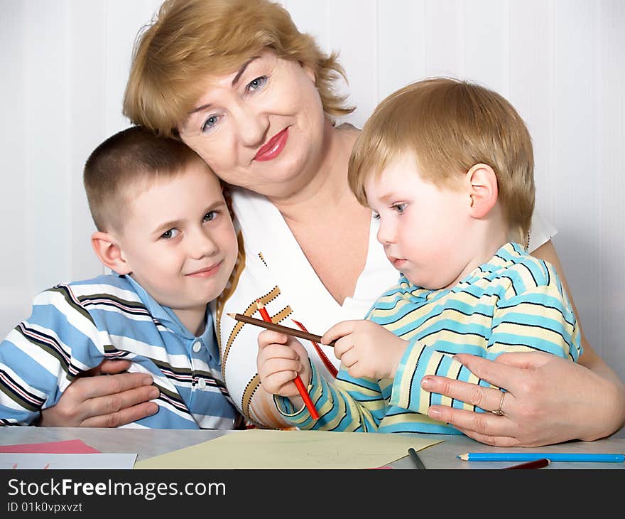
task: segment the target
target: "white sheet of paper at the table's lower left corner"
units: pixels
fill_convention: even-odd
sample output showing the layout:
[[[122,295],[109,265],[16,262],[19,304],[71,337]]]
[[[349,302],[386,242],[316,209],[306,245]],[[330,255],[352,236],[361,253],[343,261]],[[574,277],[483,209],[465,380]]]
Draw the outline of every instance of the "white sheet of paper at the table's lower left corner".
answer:
[[[0,469],[132,469],[136,454],[0,453]]]

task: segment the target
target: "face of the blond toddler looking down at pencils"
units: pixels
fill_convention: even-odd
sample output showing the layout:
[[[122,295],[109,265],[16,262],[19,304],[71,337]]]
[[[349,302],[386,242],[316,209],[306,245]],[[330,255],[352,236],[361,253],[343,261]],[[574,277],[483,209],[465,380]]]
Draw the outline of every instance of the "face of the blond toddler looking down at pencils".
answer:
[[[469,197],[424,181],[411,156],[401,156],[365,184],[369,207],[379,215],[378,241],[393,267],[418,287],[450,287],[470,258],[462,244]]]

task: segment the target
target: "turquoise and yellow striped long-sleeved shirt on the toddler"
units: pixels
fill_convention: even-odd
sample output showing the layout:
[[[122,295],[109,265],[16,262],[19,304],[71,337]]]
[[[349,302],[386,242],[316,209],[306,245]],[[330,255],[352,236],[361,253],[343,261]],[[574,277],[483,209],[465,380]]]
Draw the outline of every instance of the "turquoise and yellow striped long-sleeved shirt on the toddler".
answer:
[[[555,268],[507,243],[451,289],[415,287],[403,275],[369,310],[366,319],[406,339],[394,380],[352,378],[343,367],[334,383],[312,367],[310,396],[320,414],[294,410],[274,397],[278,410],[300,429],[354,432],[460,434],[427,416],[430,405],[483,411],[422,390],[425,375],[489,386],[455,353],[494,359],[504,352],[545,351],[577,361],[580,330]]]

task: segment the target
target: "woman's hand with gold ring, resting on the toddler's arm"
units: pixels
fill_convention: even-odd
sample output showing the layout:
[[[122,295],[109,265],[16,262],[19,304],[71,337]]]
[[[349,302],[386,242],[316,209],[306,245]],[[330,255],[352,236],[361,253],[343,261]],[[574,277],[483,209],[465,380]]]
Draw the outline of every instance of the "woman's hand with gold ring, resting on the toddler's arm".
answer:
[[[623,426],[625,388],[613,378],[542,352],[504,353],[496,360],[455,355],[479,378],[506,389],[503,416],[435,405],[428,415],[478,442],[494,446],[543,446],[572,439],[592,441]],[[423,389],[499,408],[501,391],[445,377],[425,376]]]

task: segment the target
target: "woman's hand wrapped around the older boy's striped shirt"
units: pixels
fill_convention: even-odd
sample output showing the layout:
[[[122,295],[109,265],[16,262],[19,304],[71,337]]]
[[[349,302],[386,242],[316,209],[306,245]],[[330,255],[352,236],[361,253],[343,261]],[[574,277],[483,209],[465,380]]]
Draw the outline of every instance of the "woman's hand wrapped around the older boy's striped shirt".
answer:
[[[126,360],[104,360],[76,378],[53,407],[41,411],[40,427],[118,427],[155,414],[159,395],[146,373],[122,373]],[[93,375],[110,374],[107,377]]]

